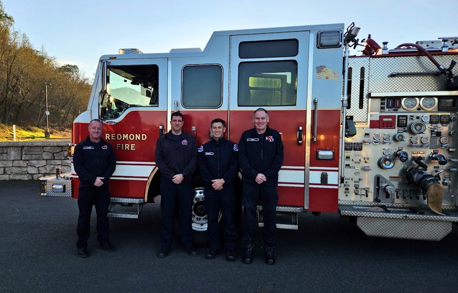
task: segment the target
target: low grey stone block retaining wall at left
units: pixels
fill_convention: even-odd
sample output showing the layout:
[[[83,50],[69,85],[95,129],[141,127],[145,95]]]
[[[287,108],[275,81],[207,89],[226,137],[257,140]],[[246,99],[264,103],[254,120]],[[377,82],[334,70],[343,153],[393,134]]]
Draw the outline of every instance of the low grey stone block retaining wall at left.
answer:
[[[0,142],[0,180],[37,180],[70,172],[70,141]]]

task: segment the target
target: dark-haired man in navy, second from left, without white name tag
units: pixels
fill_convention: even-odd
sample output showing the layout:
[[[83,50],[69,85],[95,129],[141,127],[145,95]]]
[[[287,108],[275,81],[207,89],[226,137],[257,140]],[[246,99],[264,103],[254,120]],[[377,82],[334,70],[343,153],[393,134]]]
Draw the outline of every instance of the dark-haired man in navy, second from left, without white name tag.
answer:
[[[164,258],[171,250],[173,236],[173,213],[178,203],[181,244],[191,256],[197,256],[192,243],[192,198],[194,190],[191,175],[197,168],[197,145],[195,138],[181,130],[183,114],[174,112],[170,119],[171,130],[156,143],[156,165],[161,176],[161,250]]]

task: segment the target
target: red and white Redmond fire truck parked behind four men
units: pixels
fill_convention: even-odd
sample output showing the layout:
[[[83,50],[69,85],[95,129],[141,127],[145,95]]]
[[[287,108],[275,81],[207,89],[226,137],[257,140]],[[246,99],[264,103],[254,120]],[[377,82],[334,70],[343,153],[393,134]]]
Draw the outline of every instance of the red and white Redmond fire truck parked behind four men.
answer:
[[[71,143],[86,138],[92,119],[103,121],[117,158],[109,216],[137,218],[160,195],[154,152],[171,113],[184,115],[200,146],[214,118],[238,143],[263,107],[285,146],[278,228],[298,229],[308,211],[340,213],[369,236],[449,234],[458,222],[458,39],[389,49],[358,32],[354,24],[218,31],[203,50],[100,57]],[[43,194],[77,197],[73,168],[41,184]],[[206,231],[204,203],[195,180],[195,231]],[[258,220],[262,227],[261,205]]]

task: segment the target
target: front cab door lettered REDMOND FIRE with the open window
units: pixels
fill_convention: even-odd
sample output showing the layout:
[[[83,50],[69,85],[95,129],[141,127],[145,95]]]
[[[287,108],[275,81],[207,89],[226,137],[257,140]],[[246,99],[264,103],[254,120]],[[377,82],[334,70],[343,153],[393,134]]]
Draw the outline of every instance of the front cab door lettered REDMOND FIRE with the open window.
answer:
[[[114,147],[117,160],[112,196],[143,198],[155,166],[156,141],[169,125],[168,69],[166,58],[135,56],[109,60],[100,118],[104,139]]]

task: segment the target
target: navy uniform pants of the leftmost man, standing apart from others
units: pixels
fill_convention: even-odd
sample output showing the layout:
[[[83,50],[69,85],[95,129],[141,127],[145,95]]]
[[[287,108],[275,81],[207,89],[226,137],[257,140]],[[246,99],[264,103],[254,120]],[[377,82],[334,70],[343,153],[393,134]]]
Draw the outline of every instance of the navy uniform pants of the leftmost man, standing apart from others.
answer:
[[[110,206],[110,189],[108,186],[84,187],[78,189],[78,224],[76,234],[78,248],[87,247],[91,235],[91,212],[95,205],[97,213],[97,240],[99,244],[107,244],[110,240],[110,225],[108,224],[108,207]]]

